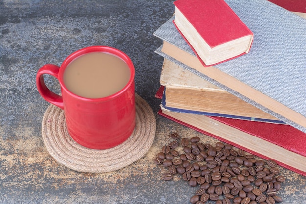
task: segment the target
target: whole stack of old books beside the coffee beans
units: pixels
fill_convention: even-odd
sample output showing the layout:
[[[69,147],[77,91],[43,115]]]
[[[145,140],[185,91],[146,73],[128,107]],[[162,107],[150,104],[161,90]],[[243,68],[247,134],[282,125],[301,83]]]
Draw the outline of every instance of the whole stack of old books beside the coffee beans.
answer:
[[[164,57],[162,86],[156,93],[161,99],[159,114],[306,176],[306,20],[301,18],[305,3],[290,8],[293,14],[267,0],[223,2],[251,31],[247,43],[238,43],[242,51],[233,55],[207,61],[199,54],[197,45],[210,43],[188,36],[195,32],[190,25],[196,27],[194,22],[188,25],[190,18],[182,18],[188,6],[175,3],[180,18],[174,15],[154,32],[163,40],[155,51]],[[214,12],[224,9],[218,6]],[[196,10],[189,13],[209,13]],[[216,16],[221,15],[214,15],[199,18],[218,27]],[[229,32],[225,30],[220,33]]]

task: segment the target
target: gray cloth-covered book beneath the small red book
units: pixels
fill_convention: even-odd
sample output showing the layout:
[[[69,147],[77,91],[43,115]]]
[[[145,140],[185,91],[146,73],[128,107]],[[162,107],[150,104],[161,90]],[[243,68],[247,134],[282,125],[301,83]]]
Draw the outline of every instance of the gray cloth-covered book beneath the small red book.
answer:
[[[207,72],[209,69],[203,71],[205,67],[201,70],[190,67],[161,49],[156,52],[306,132],[306,20],[266,0],[225,1],[254,33],[254,41],[248,54],[215,65],[214,69],[243,83],[245,89],[241,88],[241,83],[234,83],[235,80],[226,85],[222,79],[215,80]],[[195,56],[175,28],[173,19],[154,35]]]

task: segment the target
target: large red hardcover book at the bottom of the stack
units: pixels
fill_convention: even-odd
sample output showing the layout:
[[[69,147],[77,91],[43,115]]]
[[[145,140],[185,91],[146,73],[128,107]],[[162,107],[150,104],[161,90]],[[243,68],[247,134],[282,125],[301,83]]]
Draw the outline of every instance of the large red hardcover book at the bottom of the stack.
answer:
[[[161,86],[155,97],[162,98]],[[159,110],[159,115],[306,176],[306,133],[290,125]]]

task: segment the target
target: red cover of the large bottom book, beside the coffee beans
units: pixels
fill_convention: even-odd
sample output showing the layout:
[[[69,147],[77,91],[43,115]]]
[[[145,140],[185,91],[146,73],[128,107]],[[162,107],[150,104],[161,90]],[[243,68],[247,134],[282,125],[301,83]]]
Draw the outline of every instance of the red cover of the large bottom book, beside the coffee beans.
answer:
[[[217,136],[212,134],[211,132],[207,132],[203,129],[197,128],[196,126],[193,126],[192,124],[188,124],[186,122],[183,122],[181,120],[178,120],[174,117],[171,117],[165,113],[162,112],[162,110],[159,110],[159,115],[164,116],[168,119],[171,119],[179,124],[185,125],[189,128],[192,128],[200,133],[203,133],[205,135],[214,137],[216,139],[219,139],[220,141],[223,141],[225,143],[231,144],[237,148],[240,148],[244,151],[250,152],[251,154],[254,154],[258,157],[261,157],[263,159],[272,159],[275,160],[280,166],[283,166],[284,168],[287,168],[291,171],[294,171],[298,174],[301,174],[303,176],[306,176],[306,170],[304,167],[303,169],[295,168],[291,165],[286,164],[285,162],[280,162],[278,159],[275,159],[275,157],[269,157],[266,155],[263,155],[262,153],[258,151],[251,150],[247,148],[247,145],[238,145],[235,142],[232,142],[230,140],[224,139],[222,136]],[[208,117],[208,116],[207,116]],[[303,157],[306,157],[306,145],[305,145],[305,138],[306,134],[293,128],[289,125],[282,125],[282,124],[273,124],[273,123],[263,123],[263,122],[255,122],[255,121],[246,121],[246,120],[237,120],[237,119],[229,119],[229,118],[222,118],[222,117],[209,117],[216,121],[222,122],[226,125],[229,125],[231,127],[234,127],[236,129],[239,129],[242,132],[246,132],[250,135],[257,136],[259,138],[262,138],[266,141],[269,141],[273,144],[279,145],[283,147],[284,149],[287,149],[289,151],[292,151],[296,154],[299,154]],[[222,127],[220,127],[222,128]],[[235,137],[233,135],[233,137]],[[245,142],[250,143],[250,140],[245,138]],[[268,150],[267,150],[268,151]],[[297,161],[299,162],[299,161]],[[301,162],[301,161],[300,161]],[[302,161],[303,165],[303,161]]]

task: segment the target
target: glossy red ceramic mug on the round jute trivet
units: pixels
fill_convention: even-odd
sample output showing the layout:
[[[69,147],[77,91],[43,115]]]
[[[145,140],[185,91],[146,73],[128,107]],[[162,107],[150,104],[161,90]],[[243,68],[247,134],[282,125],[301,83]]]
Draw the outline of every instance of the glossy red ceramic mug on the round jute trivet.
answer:
[[[63,78],[67,66],[78,57],[92,52],[110,54],[126,63],[130,69],[130,78],[120,91],[106,97],[87,98],[67,89]],[[58,79],[61,95],[47,88],[44,74]],[[124,142],[134,130],[134,77],[134,65],[125,53],[112,47],[91,46],[69,55],[60,67],[52,64],[41,67],[36,76],[36,85],[46,101],[64,110],[67,129],[73,140],[91,149],[108,149]]]

